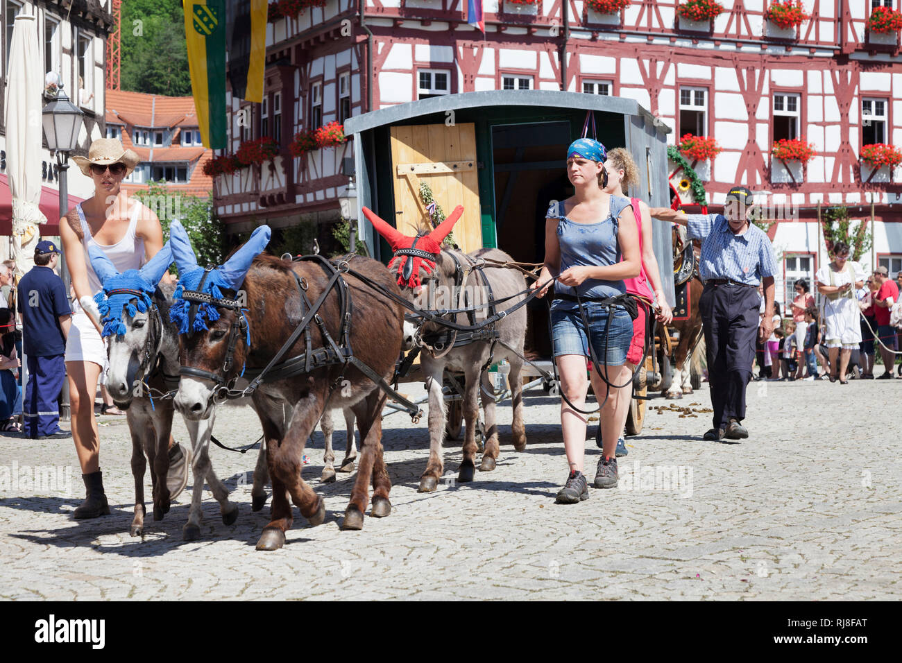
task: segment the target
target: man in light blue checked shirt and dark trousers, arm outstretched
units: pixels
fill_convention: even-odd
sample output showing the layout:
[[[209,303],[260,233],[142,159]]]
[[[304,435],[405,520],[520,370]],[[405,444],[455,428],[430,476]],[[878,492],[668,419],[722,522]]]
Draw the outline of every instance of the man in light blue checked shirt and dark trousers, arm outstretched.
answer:
[[[749,437],[741,421],[755,359],[755,334],[767,339],[773,330],[777,259],[768,235],[751,223],[751,207],[751,191],[735,186],[726,196],[723,214],[687,216],[667,207],[651,210],[655,218],[686,226],[689,239],[702,240],[699,274],[704,291],[698,307],[714,410],[714,427],[704,434],[706,440]],[[759,283],[764,286],[763,318]]]

